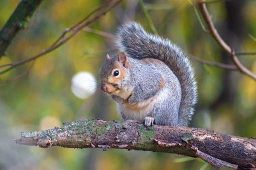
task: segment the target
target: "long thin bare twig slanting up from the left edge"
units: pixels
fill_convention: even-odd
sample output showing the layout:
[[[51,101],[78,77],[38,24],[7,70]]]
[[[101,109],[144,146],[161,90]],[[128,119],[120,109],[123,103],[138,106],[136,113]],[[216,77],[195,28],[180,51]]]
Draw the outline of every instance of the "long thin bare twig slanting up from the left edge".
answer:
[[[71,39],[74,35],[76,35],[80,30],[82,30],[85,26],[87,26],[88,24],[94,22],[95,20],[97,20],[98,18],[100,18],[102,15],[104,15],[106,12],[108,12],[109,10],[111,10],[113,7],[115,7],[117,4],[119,4],[122,0],[116,0],[112,5],[110,5],[108,8],[106,8],[105,10],[103,10],[102,12],[100,12],[99,14],[97,14],[96,16],[94,16],[93,18],[89,19],[88,21],[84,22],[84,23],[80,23],[81,21],[79,21],[79,24],[76,24],[76,26],[71,27],[72,28],[72,32],[70,32],[70,34],[68,36],[65,36],[67,32],[70,31],[70,29],[66,29],[62,35],[57,38],[57,40],[48,48],[44,49],[42,52],[40,52],[39,54],[32,56],[30,58],[26,58],[23,59],[21,61],[18,62],[14,62],[14,63],[9,63],[9,64],[5,64],[5,66],[10,65],[10,67],[0,71],[0,74],[3,74],[5,72],[8,72],[14,68],[16,68],[19,65],[22,65],[26,62],[30,62],[32,60],[37,59],[38,57],[49,53],[53,50],[55,50],[56,48],[58,48],[59,46],[61,46],[62,44],[66,43],[69,39]],[[96,8],[95,10],[93,10],[91,13],[95,13],[95,11],[98,11],[99,9],[101,9],[103,6],[105,6],[108,3],[108,1],[106,1],[103,5],[100,5],[98,8]],[[91,15],[91,13],[89,15]],[[88,16],[87,16],[88,17]],[[84,19],[82,19],[84,20]],[[0,65],[0,67],[3,67]]]

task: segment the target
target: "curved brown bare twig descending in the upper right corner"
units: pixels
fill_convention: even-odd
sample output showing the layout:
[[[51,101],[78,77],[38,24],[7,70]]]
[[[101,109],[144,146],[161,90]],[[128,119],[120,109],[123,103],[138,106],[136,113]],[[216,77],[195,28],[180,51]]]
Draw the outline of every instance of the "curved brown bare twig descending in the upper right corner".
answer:
[[[254,80],[256,80],[256,74],[248,70],[237,58],[235,55],[234,50],[222,39],[222,37],[219,35],[218,31],[214,27],[214,24],[212,22],[211,16],[207,10],[207,7],[205,5],[205,0],[198,0],[198,7],[203,15],[203,18],[208,26],[208,30],[210,31],[212,37],[216,40],[216,42],[231,56],[231,59],[233,60],[234,64],[236,65],[237,69],[250,76]]]

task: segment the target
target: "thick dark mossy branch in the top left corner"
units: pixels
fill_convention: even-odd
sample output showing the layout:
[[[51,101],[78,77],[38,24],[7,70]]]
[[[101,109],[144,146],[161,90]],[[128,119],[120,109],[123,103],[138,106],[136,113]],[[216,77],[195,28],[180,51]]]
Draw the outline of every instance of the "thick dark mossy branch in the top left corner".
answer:
[[[33,13],[43,0],[22,0],[5,26],[0,31],[0,57],[5,54],[6,49],[21,30],[27,27]]]

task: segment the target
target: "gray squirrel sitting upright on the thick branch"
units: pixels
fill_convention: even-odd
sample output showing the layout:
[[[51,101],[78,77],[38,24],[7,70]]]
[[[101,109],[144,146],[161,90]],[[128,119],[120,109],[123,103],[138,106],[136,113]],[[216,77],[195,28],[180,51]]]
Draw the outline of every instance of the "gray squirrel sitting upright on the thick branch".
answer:
[[[135,21],[118,28],[120,53],[106,54],[101,89],[117,102],[122,120],[187,126],[197,100],[194,70],[170,40],[153,35]]]

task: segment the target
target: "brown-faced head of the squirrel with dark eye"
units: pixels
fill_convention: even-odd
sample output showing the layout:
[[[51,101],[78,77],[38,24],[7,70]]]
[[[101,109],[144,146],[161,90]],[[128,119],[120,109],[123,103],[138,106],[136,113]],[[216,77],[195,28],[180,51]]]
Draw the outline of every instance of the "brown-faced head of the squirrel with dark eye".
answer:
[[[106,54],[104,65],[101,67],[101,89],[108,94],[116,94],[125,88],[129,80],[130,63],[124,52],[116,57]]]

